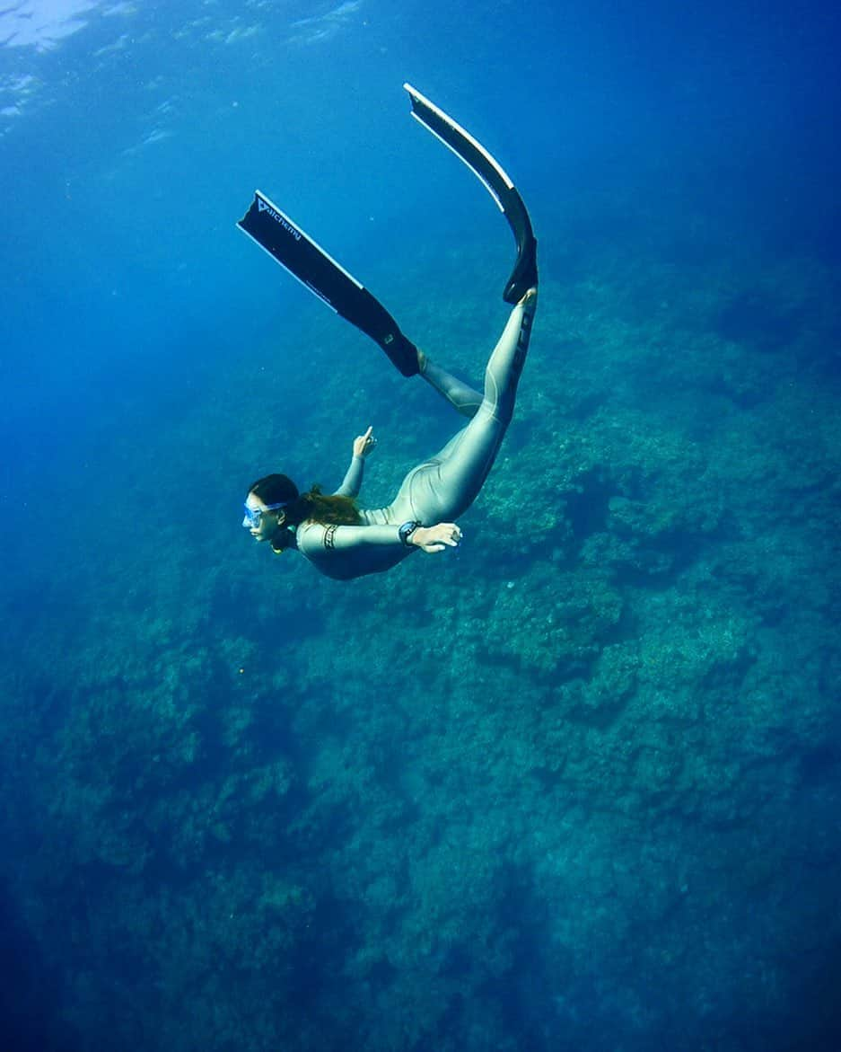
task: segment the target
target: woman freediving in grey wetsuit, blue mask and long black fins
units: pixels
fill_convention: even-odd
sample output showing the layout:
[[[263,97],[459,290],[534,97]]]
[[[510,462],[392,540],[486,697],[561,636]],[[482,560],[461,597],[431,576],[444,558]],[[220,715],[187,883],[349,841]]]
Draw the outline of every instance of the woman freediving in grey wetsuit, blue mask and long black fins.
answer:
[[[258,191],[239,225],[278,262],[340,315],[374,339],[404,376],[419,373],[470,422],[430,460],[412,468],[387,507],[361,509],[355,498],[365,458],[376,445],[372,428],[353,442],[350,467],[339,489],[300,493],[285,474],[248,488],[243,526],[276,551],[294,549],[326,576],[341,581],[380,573],[412,552],[457,547],[456,524],[476,499],[514,412],[517,384],[537,306],[536,241],[513,183],[479,143],[409,85],[413,116],[483,181],[517,241],[517,262],[504,299],[514,307],[485,370],[479,393],[432,362],[401,332],[394,319],[288,216]]]

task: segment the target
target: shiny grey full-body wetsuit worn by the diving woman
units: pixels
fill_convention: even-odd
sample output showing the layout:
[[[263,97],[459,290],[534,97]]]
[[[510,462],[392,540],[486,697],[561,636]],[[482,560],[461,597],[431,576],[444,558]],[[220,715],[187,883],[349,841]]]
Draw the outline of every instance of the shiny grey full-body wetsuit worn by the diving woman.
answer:
[[[511,311],[488,361],[484,396],[429,359],[423,362],[424,379],[458,412],[471,418],[470,423],[435,457],[412,468],[388,507],[361,510],[361,525],[302,523],[296,532],[298,549],[317,570],[340,581],[381,573],[418,550],[403,544],[398,532],[403,523],[434,526],[454,522],[470,507],[493,466],[514,412],[536,304],[533,295]],[[355,497],[363,470],[363,459],[354,457],[336,493]]]

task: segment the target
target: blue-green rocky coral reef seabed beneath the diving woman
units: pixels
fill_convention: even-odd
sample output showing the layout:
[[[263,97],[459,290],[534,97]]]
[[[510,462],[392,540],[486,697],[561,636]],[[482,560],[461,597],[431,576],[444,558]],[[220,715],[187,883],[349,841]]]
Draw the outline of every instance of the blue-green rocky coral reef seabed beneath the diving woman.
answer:
[[[348,400],[250,348],[155,456],[116,438],[130,545],[77,483],[98,535],[68,513],[8,620],[0,798],[80,1047],[737,1052],[791,1019],[841,937],[838,318],[818,292],[805,323],[814,267],[684,296],[656,246],[600,251],[547,267],[457,554],[337,585],[237,535],[275,448],[329,485],[382,406],[376,505],[446,438],[375,359]],[[413,309],[475,373],[485,304]],[[258,376],[266,405],[317,385],[309,444],[243,431]]]

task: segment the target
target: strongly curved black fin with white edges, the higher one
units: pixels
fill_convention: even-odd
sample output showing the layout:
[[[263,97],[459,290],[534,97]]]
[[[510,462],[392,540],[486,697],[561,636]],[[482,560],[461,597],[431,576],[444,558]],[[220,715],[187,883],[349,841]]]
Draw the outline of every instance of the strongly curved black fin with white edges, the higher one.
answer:
[[[460,124],[430,102],[411,84],[403,85],[412,102],[412,117],[427,127],[470,170],[478,177],[494,199],[517,243],[517,259],[502,292],[506,303],[518,303],[537,285],[537,241],[522,198],[500,164]]]

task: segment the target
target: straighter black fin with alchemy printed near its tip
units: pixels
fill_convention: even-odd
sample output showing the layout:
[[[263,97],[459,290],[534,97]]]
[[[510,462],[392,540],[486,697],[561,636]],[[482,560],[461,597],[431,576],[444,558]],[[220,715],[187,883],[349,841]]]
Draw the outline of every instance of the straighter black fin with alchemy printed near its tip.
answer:
[[[260,190],[237,223],[328,307],[380,344],[405,377],[417,372],[417,348],[383,304]]]

